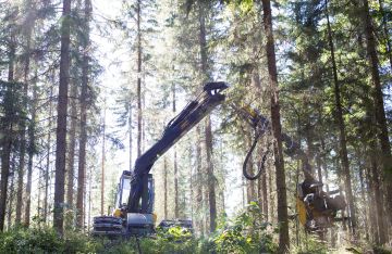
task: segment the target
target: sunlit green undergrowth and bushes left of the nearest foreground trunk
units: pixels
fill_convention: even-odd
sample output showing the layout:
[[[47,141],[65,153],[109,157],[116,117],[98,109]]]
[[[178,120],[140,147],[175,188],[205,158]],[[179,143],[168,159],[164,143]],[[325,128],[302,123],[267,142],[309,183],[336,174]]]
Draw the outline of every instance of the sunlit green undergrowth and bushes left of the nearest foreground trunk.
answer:
[[[109,240],[50,227],[15,227],[0,233],[0,253],[274,253],[275,229],[264,221],[255,203],[233,219],[221,216],[216,232],[195,237],[179,227],[157,230],[151,238]]]

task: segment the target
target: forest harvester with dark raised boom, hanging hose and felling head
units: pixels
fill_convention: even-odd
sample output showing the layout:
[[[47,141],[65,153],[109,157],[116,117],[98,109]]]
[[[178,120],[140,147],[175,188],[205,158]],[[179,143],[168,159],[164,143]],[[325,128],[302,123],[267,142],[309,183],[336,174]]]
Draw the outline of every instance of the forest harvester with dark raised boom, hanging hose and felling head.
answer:
[[[174,145],[186,132],[197,125],[217,105],[221,104],[225,96],[221,92],[229,86],[225,82],[207,82],[203,92],[185,109],[169,122],[161,138],[135,162],[134,170],[124,170],[118,185],[114,209],[111,216],[94,218],[95,236],[131,237],[149,236],[155,232],[156,215],[154,214],[155,186],[149,173],[155,162]],[[248,152],[243,167],[244,176],[249,180],[257,179],[262,172],[267,153],[264,154],[256,175],[250,176],[246,170],[247,161],[253,153],[259,138],[270,131],[269,120],[250,107],[232,106],[244,116],[255,129],[255,141]],[[282,135],[286,144],[286,152],[303,161],[305,181],[298,186],[297,207],[299,221],[310,231],[331,225],[339,209],[345,204],[340,195],[330,196],[322,192],[321,182],[317,182],[311,174],[305,153],[289,136]],[[192,226],[192,221],[180,220],[180,225]]]

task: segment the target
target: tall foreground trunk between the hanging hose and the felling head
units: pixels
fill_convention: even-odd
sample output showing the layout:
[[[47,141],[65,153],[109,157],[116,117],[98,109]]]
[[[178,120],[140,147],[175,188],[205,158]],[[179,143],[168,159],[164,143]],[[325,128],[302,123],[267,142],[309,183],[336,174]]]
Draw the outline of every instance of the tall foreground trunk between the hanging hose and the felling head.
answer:
[[[280,119],[279,88],[278,88],[278,71],[274,51],[273,31],[272,31],[272,13],[270,0],[262,0],[264,25],[267,36],[267,64],[269,73],[269,84],[271,89],[271,119],[273,132],[273,152],[274,166],[277,176],[278,192],[278,223],[279,230],[279,253],[285,253],[290,249],[289,238],[289,217],[287,217],[287,196],[284,175],[284,162],[282,152],[282,127]]]

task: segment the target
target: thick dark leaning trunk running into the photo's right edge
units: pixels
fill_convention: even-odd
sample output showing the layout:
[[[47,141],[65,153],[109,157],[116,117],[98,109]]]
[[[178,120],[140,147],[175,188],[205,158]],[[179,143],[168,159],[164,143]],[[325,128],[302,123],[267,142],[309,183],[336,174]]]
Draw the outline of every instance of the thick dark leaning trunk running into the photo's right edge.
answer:
[[[388,196],[388,207],[389,211],[392,211],[392,156],[391,156],[391,144],[388,136],[388,123],[385,117],[384,101],[382,94],[382,87],[380,81],[379,73],[379,59],[377,55],[377,41],[375,38],[375,29],[371,23],[371,16],[369,13],[369,3],[368,0],[363,0],[364,2],[364,20],[365,20],[365,34],[367,41],[367,54],[369,60],[369,66],[371,68],[371,79],[373,82],[373,101],[375,101],[375,115],[377,127],[377,136],[381,144],[382,153],[382,166],[384,172],[384,182],[387,185],[387,196]],[[392,221],[392,213],[389,213],[389,220]]]

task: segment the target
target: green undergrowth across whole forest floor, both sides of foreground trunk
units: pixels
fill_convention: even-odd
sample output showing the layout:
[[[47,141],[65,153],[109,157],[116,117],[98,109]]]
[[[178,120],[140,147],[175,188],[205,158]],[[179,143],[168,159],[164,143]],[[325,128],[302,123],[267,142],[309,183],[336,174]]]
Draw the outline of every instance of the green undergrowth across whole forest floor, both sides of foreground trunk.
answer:
[[[72,220],[70,220],[72,221]],[[320,241],[303,230],[292,232],[297,243],[292,242],[289,253],[373,253],[392,254],[391,247],[381,247],[367,242],[350,242],[348,238],[338,237],[331,247],[329,241]],[[2,253],[168,253],[168,254],[205,254],[205,253],[277,253],[279,228],[265,221],[256,203],[233,218],[222,216],[218,227],[208,236],[196,236],[181,227],[169,229],[157,228],[156,233],[144,238],[109,240],[91,237],[68,226],[60,236],[42,220],[34,220],[29,228],[19,226],[0,232],[0,254]]]

